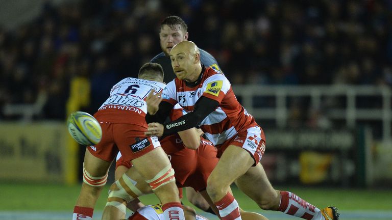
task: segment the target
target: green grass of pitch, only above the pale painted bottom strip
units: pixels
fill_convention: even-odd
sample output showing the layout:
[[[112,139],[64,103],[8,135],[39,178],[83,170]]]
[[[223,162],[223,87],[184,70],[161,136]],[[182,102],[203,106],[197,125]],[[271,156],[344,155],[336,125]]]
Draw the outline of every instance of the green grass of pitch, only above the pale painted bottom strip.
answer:
[[[392,210],[390,189],[341,189],[317,187],[283,187],[317,207],[335,205],[340,210]],[[0,210],[72,210],[79,195],[80,185],[66,186],[34,183],[0,183]],[[108,185],[102,191],[95,210],[106,203]],[[258,210],[257,205],[233,187],[234,196],[243,209]],[[145,204],[158,202],[154,195],[141,197]],[[388,202],[389,201],[389,202]],[[184,201],[185,204],[187,201]]]

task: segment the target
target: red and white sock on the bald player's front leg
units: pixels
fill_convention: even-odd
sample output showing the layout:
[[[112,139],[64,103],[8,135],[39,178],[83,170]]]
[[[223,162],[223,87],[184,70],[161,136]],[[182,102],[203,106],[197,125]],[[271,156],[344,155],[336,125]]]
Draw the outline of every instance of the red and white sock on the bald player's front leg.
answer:
[[[238,203],[230,193],[227,193],[225,197],[214,204],[218,208],[222,220],[241,219]]]

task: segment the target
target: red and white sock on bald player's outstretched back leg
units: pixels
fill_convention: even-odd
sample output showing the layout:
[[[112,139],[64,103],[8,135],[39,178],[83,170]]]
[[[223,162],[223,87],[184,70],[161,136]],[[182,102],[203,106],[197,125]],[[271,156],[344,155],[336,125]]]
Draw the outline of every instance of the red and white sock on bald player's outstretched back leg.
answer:
[[[312,219],[316,212],[320,211],[317,207],[288,191],[280,191],[280,204],[278,210],[307,220]]]

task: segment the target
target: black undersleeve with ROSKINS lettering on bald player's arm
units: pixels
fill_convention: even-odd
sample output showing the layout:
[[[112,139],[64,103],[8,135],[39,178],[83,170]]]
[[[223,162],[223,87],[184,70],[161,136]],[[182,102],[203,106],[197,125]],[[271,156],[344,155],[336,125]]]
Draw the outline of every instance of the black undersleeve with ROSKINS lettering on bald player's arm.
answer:
[[[200,97],[194,104],[194,110],[179,119],[163,124],[163,135],[170,135],[179,131],[183,131],[192,127],[197,127],[199,124],[219,106],[216,100]]]

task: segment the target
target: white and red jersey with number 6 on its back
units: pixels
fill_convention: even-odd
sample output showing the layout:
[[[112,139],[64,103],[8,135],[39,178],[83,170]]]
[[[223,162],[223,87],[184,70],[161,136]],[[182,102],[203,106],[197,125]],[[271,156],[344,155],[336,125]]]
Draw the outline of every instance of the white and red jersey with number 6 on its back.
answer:
[[[125,78],[110,90],[109,98],[94,117],[98,121],[146,126],[147,104],[144,99],[154,90],[160,92],[165,84],[138,78]]]

